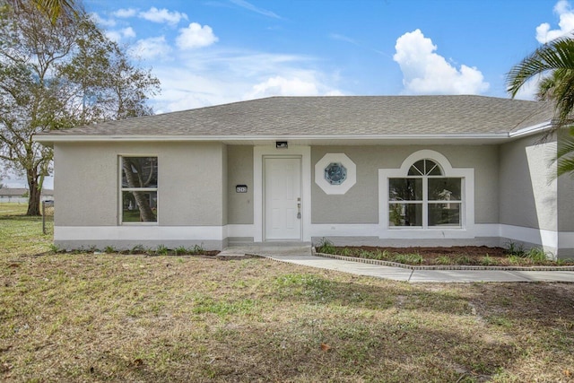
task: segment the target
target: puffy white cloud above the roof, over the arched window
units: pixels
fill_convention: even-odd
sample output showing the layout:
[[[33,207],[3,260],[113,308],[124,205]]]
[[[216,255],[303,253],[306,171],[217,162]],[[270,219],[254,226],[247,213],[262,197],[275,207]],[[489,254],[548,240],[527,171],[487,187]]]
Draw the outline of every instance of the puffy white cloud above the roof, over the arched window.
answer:
[[[475,67],[457,69],[434,53],[437,46],[421,30],[404,33],[396,39],[395,48],[393,59],[401,67],[407,94],[478,94],[489,88]]]

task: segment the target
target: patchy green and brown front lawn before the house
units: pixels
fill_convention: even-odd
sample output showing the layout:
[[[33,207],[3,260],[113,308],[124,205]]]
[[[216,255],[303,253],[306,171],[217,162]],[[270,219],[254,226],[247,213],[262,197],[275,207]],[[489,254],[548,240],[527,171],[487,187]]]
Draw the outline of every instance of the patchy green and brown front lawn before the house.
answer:
[[[571,284],[408,284],[264,258],[51,254],[35,219],[0,216],[4,231],[28,232],[0,237],[1,381],[572,379]]]

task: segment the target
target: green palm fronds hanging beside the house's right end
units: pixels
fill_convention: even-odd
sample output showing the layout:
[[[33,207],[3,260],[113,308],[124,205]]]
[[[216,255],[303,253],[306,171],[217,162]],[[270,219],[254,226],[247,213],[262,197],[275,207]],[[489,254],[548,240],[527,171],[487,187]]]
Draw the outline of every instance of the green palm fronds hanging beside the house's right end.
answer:
[[[535,50],[510,69],[507,90],[514,98],[531,79],[542,77],[538,83],[538,100],[554,103],[553,131],[570,127],[570,134],[559,134],[556,158],[557,176],[574,175],[574,39],[563,37]],[[559,132],[560,133],[560,132]]]

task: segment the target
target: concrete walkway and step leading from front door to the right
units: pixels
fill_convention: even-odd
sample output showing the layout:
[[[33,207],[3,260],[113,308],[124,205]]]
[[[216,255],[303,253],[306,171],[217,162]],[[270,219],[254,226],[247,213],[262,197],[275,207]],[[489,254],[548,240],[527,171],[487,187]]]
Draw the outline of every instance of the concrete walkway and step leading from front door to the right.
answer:
[[[469,282],[568,282],[574,283],[574,271],[509,270],[411,270],[387,265],[316,257],[310,246],[246,246],[226,248],[220,256],[254,255],[295,265],[374,276],[409,283]]]

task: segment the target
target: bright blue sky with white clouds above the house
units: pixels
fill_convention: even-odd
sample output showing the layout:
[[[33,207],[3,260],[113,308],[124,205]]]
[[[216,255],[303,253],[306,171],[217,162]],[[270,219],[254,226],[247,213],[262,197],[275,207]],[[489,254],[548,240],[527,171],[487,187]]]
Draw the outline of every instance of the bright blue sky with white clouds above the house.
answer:
[[[574,30],[565,0],[84,0],[161,81],[156,113],[274,95],[481,94]],[[532,99],[534,86],[520,98]],[[4,179],[23,187],[18,179]],[[46,187],[52,187],[48,178]]]

